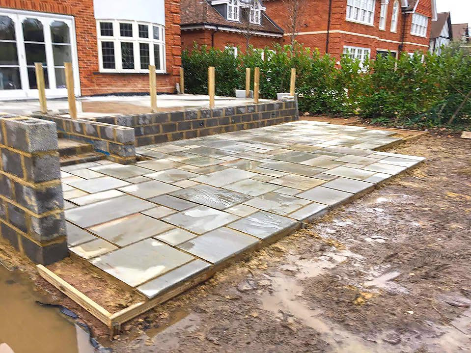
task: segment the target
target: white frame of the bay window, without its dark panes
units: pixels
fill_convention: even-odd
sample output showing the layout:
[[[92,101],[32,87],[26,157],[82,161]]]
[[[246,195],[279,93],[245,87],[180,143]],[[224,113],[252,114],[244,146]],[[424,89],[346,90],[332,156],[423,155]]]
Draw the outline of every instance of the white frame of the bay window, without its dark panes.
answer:
[[[113,28],[113,35],[106,36],[101,34],[100,24],[111,23]],[[120,23],[128,23],[132,25],[133,36],[124,37],[120,33]],[[148,28],[147,38],[139,37],[139,25],[146,25]],[[154,39],[154,27],[159,29],[159,39]],[[97,20],[97,42],[98,42],[98,65],[99,71],[103,73],[148,73],[149,69],[141,69],[140,67],[140,43],[146,43],[149,46],[149,65],[156,65],[154,56],[154,45],[159,46],[160,51],[160,63],[156,65],[156,73],[166,73],[166,47],[165,47],[165,27],[162,25],[142,22],[142,21],[126,21],[126,20]],[[114,69],[103,67],[103,52],[102,43],[112,42],[114,46]],[[121,57],[121,43],[133,43],[133,54],[134,54],[134,69],[124,69],[122,65]],[[160,69],[158,68],[160,66]]]

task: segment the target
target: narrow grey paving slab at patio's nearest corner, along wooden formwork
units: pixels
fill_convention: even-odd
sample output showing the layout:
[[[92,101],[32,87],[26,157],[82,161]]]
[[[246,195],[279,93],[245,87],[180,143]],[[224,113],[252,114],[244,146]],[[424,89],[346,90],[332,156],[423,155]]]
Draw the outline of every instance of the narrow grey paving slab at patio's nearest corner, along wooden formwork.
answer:
[[[136,289],[147,298],[152,299],[167,292],[174,286],[190,280],[192,277],[204,272],[209,267],[211,267],[211,265],[207,262],[196,259],[152,279],[151,281],[140,285]]]

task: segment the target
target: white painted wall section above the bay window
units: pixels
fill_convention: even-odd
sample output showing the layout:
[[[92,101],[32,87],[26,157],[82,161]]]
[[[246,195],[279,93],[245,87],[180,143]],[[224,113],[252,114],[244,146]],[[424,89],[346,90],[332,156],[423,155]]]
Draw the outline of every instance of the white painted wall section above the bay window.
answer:
[[[93,0],[97,20],[134,20],[165,26],[164,0]]]

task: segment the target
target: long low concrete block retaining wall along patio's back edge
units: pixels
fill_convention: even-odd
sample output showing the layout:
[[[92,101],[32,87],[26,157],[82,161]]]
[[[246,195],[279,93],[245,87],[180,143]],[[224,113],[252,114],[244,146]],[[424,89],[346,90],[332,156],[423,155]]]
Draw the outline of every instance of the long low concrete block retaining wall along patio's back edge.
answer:
[[[95,118],[95,121],[134,128],[136,146],[143,146],[298,119],[297,104],[289,100],[215,109],[106,116]]]

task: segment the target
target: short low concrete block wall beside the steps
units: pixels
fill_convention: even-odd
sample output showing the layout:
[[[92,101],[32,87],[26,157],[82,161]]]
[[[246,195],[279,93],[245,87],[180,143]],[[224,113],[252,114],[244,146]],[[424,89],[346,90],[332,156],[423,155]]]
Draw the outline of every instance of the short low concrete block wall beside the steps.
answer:
[[[132,128],[88,119],[69,119],[55,115],[35,116],[54,121],[57,132],[63,137],[90,143],[96,152],[103,153],[113,162],[136,162],[135,135]]]

